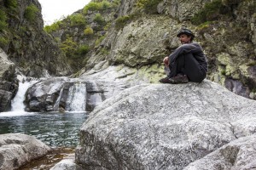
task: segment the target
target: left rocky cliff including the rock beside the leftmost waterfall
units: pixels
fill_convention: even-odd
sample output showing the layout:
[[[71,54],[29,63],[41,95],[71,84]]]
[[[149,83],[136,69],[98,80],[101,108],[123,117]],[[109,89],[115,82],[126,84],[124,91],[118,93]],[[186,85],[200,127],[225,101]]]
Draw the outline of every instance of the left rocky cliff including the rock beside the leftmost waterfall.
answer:
[[[0,111],[10,109],[18,72],[27,77],[71,74],[65,55],[43,28],[37,0],[0,0]]]

